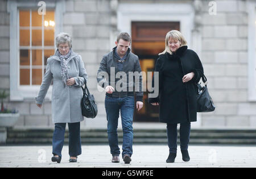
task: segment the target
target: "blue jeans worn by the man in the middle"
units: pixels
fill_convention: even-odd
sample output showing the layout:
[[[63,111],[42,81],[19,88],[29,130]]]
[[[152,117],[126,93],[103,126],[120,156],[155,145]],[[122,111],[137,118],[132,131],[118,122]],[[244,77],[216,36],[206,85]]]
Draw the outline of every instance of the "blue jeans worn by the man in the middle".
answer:
[[[133,113],[134,97],[128,96],[123,98],[114,98],[106,95],[105,98],[106,117],[108,120],[108,139],[110,153],[113,156],[119,156],[117,126],[119,111],[121,112],[122,129],[123,129],[123,146],[122,156],[133,154]]]

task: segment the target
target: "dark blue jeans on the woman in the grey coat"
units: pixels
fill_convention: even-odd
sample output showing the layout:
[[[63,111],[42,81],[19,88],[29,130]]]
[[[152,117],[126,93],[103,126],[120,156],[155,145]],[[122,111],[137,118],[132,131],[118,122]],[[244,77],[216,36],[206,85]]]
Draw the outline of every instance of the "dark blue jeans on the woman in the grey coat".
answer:
[[[66,123],[55,123],[52,138],[52,154],[61,157]],[[69,156],[81,155],[80,122],[68,123]]]

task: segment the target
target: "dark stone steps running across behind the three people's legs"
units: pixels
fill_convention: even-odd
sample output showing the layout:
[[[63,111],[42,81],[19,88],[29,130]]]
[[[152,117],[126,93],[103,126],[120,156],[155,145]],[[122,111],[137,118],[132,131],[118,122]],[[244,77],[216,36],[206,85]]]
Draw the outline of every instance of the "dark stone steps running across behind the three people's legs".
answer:
[[[7,144],[51,144],[53,129],[7,130]],[[123,133],[118,130],[118,141],[122,143]],[[179,130],[178,130],[179,138]],[[106,130],[81,130],[83,144],[108,144]],[[136,144],[166,144],[166,130],[134,130]],[[68,143],[68,130],[65,132]],[[179,140],[178,140],[179,142]],[[191,130],[190,144],[256,144],[256,130]]]

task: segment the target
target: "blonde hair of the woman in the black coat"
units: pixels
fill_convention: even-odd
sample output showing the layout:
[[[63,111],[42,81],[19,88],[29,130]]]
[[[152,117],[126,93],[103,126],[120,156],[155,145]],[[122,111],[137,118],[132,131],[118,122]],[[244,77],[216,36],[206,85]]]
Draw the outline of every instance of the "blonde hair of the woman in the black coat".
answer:
[[[167,32],[166,34],[166,49],[162,53],[159,53],[159,55],[162,55],[166,52],[172,54],[169,46],[168,46],[168,40],[172,38],[173,40],[178,40],[181,44],[180,47],[187,45],[187,41],[185,40],[184,36],[180,33],[180,31],[172,30],[170,32]]]

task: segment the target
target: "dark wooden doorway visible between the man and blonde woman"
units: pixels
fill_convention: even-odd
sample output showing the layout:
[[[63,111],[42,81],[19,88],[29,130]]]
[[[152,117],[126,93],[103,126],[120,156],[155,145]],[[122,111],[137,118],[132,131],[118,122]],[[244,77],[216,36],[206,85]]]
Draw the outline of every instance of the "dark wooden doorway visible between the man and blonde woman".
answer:
[[[131,48],[139,56],[142,71],[154,72],[158,53],[165,49],[167,32],[180,30],[179,22],[132,22],[131,23]],[[146,80],[146,79],[143,79]],[[159,107],[147,102],[148,91],[144,92],[143,108],[135,110],[135,122],[157,122]]]

